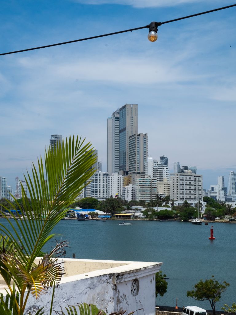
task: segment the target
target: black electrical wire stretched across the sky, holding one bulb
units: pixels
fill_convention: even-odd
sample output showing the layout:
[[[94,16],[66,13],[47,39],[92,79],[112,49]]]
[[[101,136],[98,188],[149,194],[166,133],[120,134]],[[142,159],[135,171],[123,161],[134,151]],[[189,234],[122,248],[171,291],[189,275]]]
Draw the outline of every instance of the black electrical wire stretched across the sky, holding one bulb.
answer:
[[[222,7],[222,8],[218,8],[218,9],[213,9],[213,10],[209,10],[209,11],[205,11],[205,12],[200,12],[200,13],[188,15],[188,16],[184,16],[184,17],[182,17],[182,18],[177,18],[177,19],[174,19],[174,20],[169,20],[169,21],[165,21],[165,22],[159,22],[158,24],[159,24],[159,25],[162,25],[162,24],[166,24],[166,23],[171,23],[171,22],[175,22],[175,21],[179,21],[179,20],[183,20],[183,19],[188,19],[188,18],[192,18],[192,17],[194,17],[194,16],[198,16],[198,15],[202,15],[202,14],[206,14],[206,13],[211,13],[211,12],[215,12],[215,11],[219,11],[219,10],[223,10],[223,9],[228,9],[228,8],[232,8],[232,7],[236,7],[236,3],[235,3],[235,4],[232,4],[232,5],[228,5],[228,6],[226,6],[226,7]],[[99,37],[105,37],[105,36],[110,36],[110,35],[115,35],[115,34],[121,34],[121,33],[126,33],[126,32],[137,31],[137,30],[141,30],[141,29],[143,29],[143,28],[149,28],[149,26],[150,26],[150,25],[146,25],[146,26],[131,28],[131,29],[129,29],[129,30],[118,31],[118,32],[113,32],[113,33],[108,33],[108,34],[103,34],[103,35],[97,35],[97,36],[92,36],[92,37],[86,37],[86,38],[71,40],[71,41],[69,41],[69,42],[63,42],[63,43],[57,43],[57,44],[39,46],[39,47],[34,47],[34,48],[28,48],[28,49],[10,51],[10,52],[8,52],[8,53],[2,53],[2,54],[0,54],[0,56],[9,55],[9,54],[16,54],[16,53],[22,53],[22,52],[24,52],[24,51],[29,51],[29,50],[42,49],[42,48],[47,48],[47,47],[53,47],[53,46],[59,46],[59,45],[70,44],[70,43],[76,43],[76,42],[81,42],[81,41],[88,40],[88,39],[94,39],[94,38],[99,38]]]

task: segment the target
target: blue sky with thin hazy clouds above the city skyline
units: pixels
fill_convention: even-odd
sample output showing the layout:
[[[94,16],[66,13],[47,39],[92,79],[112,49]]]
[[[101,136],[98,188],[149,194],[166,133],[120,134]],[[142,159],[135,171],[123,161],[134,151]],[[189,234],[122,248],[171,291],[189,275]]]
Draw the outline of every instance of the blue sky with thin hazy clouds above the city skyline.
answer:
[[[167,21],[228,0],[2,0],[0,53]],[[204,188],[236,171],[236,8],[148,29],[0,56],[0,176],[44,154],[51,134],[81,135],[106,171],[106,119],[138,104],[149,156],[194,165]]]

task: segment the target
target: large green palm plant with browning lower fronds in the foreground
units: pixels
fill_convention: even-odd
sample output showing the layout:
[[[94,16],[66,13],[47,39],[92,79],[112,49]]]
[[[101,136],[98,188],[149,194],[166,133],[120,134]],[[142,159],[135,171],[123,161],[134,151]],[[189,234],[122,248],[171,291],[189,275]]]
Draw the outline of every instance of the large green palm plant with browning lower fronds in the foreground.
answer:
[[[94,173],[92,165],[96,156],[92,155],[91,144],[84,141],[73,136],[56,150],[45,150],[44,163],[40,157],[38,170],[32,164],[32,175],[27,171],[24,176],[31,203],[23,186],[22,205],[16,199],[14,203],[8,201],[20,220],[16,215],[9,220],[1,212],[8,225],[0,223],[0,274],[7,286],[6,298],[0,297],[0,314],[23,315],[30,294],[37,299],[49,288],[54,290],[59,285],[64,268],[57,257],[66,242],[56,243],[51,253],[45,254],[38,264],[35,259],[43,246],[55,237],[54,226],[64,218],[66,208],[75,201],[84,183]],[[20,216],[22,208],[23,217]],[[42,309],[37,312],[40,314],[43,314]]]

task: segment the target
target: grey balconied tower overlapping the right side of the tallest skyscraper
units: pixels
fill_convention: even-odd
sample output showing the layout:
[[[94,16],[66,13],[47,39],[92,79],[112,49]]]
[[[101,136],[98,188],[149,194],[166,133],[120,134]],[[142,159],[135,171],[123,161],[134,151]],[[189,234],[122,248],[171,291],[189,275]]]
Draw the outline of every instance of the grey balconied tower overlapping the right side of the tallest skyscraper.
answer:
[[[128,142],[129,174],[144,173],[144,163],[148,157],[148,134],[134,134]]]

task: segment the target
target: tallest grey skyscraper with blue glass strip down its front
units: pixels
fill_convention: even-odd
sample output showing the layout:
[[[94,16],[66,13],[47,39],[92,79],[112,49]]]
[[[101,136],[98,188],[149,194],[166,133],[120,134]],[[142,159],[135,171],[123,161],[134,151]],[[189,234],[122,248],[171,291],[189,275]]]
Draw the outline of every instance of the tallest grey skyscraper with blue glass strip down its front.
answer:
[[[128,139],[138,133],[138,104],[126,104],[119,110],[119,171],[128,174]]]

